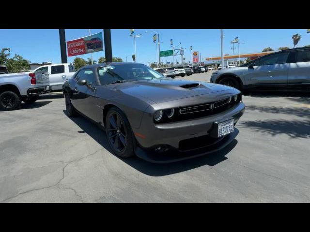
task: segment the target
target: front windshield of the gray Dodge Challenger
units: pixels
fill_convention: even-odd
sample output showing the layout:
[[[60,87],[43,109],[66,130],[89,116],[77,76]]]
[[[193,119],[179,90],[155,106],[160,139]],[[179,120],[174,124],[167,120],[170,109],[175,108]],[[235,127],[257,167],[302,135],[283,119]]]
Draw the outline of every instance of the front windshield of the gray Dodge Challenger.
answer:
[[[99,67],[98,75],[101,85],[164,78],[162,74],[157,73],[155,70],[144,64],[122,64]]]

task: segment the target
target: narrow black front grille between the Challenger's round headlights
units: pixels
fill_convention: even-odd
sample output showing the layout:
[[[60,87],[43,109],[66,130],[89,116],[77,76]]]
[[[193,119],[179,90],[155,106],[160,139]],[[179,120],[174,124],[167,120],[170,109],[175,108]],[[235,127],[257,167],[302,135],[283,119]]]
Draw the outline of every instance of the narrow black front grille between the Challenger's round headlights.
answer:
[[[242,96],[239,94],[236,102],[233,101],[233,98],[231,101],[228,100],[229,98],[226,98],[217,102],[207,102],[200,105],[175,108],[175,113],[172,118],[168,118],[166,113],[164,113],[160,122],[155,121],[155,123],[169,123],[216,115],[239,104],[241,98]]]

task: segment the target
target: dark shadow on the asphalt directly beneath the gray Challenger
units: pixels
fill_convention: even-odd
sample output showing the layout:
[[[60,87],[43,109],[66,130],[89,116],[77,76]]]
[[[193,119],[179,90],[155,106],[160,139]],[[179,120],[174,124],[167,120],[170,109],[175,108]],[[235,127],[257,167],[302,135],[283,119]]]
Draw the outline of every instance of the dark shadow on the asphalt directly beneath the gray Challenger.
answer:
[[[63,113],[67,116],[66,110],[63,110]],[[116,156],[112,149],[109,147],[105,131],[100,126],[96,125],[83,116],[69,118],[81,128],[82,131],[78,131],[78,133],[87,133],[98,144],[102,145],[106,150],[108,150],[111,155]],[[123,160],[125,163],[143,174],[150,176],[165,176],[184,172],[204,165],[215,166],[218,163],[228,159],[226,156],[235,147],[235,145],[237,145],[237,143],[238,141],[234,139],[232,143],[220,151],[214,152],[212,154],[167,164],[150,163],[145,160],[141,160],[136,156],[127,159],[122,159],[118,156],[116,157],[120,160]]]

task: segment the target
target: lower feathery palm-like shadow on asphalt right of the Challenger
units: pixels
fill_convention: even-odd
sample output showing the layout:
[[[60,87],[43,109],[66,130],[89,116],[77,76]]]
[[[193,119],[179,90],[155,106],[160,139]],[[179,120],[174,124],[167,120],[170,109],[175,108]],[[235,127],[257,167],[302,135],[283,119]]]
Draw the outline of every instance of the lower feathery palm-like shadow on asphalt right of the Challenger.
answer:
[[[268,133],[272,136],[287,134],[292,139],[310,138],[310,120],[256,120],[239,124],[241,128],[250,128],[255,132]]]

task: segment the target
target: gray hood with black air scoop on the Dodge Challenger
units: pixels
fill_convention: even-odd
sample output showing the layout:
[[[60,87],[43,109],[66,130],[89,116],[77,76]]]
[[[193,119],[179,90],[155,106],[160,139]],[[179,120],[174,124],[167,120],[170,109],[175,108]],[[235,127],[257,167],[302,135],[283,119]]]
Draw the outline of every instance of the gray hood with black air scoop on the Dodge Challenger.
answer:
[[[233,89],[232,87],[187,80],[161,78],[120,83],[115,91],[137,98],[145,98],[155,103],[168,102],[197,95]]]

